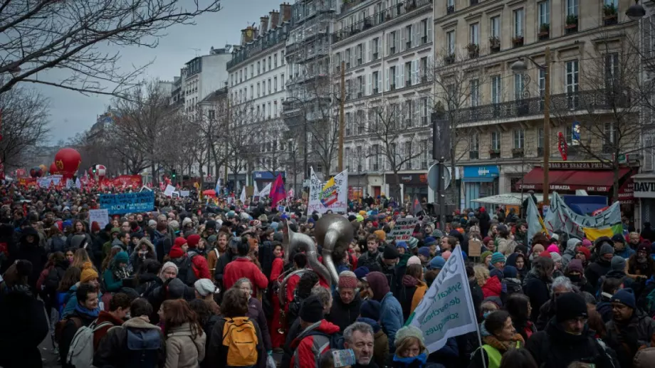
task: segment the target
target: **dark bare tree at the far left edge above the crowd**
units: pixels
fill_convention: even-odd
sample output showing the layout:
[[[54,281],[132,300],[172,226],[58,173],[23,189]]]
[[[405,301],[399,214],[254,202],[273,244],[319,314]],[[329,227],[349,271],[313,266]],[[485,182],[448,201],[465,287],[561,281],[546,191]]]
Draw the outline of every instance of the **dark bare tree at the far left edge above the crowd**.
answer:
[[[25,149],[43,143],[49,132],[49,107],[43,95],[29,88],[14,88],[0,95],[0,160],[3,164],[20,166]]]

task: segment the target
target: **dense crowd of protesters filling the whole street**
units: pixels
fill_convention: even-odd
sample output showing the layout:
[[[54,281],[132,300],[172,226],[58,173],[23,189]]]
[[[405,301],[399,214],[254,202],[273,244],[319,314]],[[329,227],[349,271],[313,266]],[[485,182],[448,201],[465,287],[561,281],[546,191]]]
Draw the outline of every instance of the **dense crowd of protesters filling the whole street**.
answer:
[[[655,362],[655,232],[589,241],[537,233],[513,211],[455,211],[437,228],[393,199],[349,203],[338,282],[291,254],[314,236],[302,200],[199,201],[89,223],[98,196],[0,188],[0,367],[597,367]],[[472,242],[481,256],[468,257]],[[315,244],[319,249],[322,244]],[[412,312],[454,251],[466,260],[477,332],[429,352]],[[320,251],[318,252],[321,253]],[[286,261],[285,261],[286,260]],[[296,270],[285,285],[281,281]],[[279,288],[284,287],[281,293]],[[283,300],[280,300],[281,295]],[[49,336],[49,339],[48,339]],[[275,357],[275,359],[273,359]],[[651,362],[651,363],[649,363]]]

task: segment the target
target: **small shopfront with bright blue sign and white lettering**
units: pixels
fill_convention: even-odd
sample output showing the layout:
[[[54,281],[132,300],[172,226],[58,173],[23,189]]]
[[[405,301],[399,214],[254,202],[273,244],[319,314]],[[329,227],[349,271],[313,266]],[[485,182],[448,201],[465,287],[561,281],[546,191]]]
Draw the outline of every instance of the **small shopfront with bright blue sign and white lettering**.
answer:
[[[464,208],[475,209],[480,206],[474,199],[498,194],[498,166],[465,166],[462,182],[464,183]]]

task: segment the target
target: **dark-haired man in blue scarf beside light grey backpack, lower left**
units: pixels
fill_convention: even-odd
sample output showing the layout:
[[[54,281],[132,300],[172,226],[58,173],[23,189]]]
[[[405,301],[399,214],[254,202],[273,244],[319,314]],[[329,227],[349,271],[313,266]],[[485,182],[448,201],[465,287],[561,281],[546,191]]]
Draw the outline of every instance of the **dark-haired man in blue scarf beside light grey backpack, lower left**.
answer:
[[[100,314],[98,290],[88,283],[75,290],[75,310],[58,323],[59,357],[63,368],[88,367],[93,359],[93,328],[89,327]],[[90,355],[88,353],[91,353]],[[74,362],[90,359],[87,365],[75,367]]]

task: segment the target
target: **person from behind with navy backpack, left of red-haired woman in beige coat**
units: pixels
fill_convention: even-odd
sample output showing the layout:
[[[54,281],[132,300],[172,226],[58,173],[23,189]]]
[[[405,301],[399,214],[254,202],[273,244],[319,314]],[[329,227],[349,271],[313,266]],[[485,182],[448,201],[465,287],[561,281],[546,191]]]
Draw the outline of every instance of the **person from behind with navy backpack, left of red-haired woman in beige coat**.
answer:
[[[112,327],[93,354],[95,367],[163,368],[166,341],[162,329],[150,323],[152,305],[144,298],[130,304],[129,320]]]

